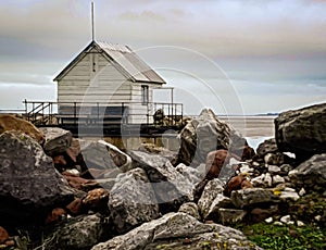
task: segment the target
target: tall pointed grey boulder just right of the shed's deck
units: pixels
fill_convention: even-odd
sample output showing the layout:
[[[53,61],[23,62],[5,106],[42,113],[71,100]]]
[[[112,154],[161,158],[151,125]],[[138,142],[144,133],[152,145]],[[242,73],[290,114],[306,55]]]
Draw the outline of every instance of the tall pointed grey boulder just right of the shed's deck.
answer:
[[[178,162],[198,165],[205,162],[209,152],[216,149],[229,150],[242,155],[247,141],[234,128],[216,117],[212,110],[204,109],[179,134]]]

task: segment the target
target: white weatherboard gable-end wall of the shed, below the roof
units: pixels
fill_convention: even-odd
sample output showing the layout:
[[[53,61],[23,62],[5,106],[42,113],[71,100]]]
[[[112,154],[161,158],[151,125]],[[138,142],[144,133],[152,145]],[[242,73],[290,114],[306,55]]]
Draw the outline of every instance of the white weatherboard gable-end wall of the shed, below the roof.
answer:
[[[130,82],[111,62],[99,53],[87,53],[58,83],[58,101],[129,102],[130,91]]]

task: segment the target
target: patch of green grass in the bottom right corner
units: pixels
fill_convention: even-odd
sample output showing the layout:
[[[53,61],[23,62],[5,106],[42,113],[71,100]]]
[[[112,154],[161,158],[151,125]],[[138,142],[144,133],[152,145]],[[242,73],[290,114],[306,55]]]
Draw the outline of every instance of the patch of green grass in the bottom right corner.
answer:
[[[315,226],[275,226],[266,223],[241,225],[238,229],[255,245],[268,250],[323,250],[326,232]]]

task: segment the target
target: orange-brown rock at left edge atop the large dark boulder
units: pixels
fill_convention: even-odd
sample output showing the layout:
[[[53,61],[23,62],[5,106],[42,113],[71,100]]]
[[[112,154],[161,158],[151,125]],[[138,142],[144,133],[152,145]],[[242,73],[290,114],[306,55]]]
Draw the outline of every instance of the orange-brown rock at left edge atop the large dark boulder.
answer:
[[[0,114],[0,134],[9,130],[22,132],[39,143],[45,141],[45,135],[32,123],[15,115]]]

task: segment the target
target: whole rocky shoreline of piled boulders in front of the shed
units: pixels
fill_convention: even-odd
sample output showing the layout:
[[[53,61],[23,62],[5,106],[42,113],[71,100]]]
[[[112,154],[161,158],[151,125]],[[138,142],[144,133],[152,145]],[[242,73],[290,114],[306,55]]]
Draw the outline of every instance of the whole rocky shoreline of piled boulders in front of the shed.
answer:
[[[235,227],[326,228],[326,104],[279,114],[256,152],[210,110],[177,152],[9,115],[0,133],[0,249],[262,249]]]

